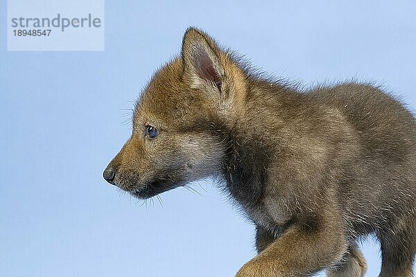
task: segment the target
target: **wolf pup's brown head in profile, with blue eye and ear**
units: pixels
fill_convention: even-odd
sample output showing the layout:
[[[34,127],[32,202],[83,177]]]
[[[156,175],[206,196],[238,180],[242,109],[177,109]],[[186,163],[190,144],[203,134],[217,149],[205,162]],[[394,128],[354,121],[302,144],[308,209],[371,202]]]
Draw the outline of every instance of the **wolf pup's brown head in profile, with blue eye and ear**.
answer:
[[[105,180],[148,198],[220,173],[223,133],[244,114],[245,78],[229,53],[189,28],[180,57],[155,73],[137,102],[132,136]]]

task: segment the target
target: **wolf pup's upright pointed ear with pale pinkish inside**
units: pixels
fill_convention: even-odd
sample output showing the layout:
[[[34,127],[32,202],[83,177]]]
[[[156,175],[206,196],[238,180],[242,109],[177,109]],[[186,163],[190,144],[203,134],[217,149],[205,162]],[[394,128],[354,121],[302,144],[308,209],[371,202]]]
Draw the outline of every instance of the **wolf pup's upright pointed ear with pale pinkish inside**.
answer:
[[[223,55],[213,39],[196,28],[188,28],[182,42],[184,77],[192,87],[222,89],[225,72],[221,65]]]

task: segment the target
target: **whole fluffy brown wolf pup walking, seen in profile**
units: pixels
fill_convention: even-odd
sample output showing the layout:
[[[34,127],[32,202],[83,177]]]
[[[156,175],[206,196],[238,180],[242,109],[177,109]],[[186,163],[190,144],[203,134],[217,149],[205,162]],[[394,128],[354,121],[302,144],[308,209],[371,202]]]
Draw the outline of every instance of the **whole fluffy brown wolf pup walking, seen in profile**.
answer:
[[[150,80],[103,176],[145,199],[209,176],[257,226],[236,274],[363,276],[357,240],[381,242],[379,276],[413,276],[416,120],[377,87],[298,91],[189,28]]]

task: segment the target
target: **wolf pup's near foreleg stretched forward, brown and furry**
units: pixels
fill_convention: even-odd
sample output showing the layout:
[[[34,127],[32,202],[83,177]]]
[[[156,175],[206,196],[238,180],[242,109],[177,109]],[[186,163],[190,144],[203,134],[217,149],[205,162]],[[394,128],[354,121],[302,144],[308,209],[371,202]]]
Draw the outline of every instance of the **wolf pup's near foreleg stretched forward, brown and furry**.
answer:
[[[320,219],[309,228],[293,225],[247,262],[236,277],[310,276],[335,265],[348,251],[345,232],[337,222]]]

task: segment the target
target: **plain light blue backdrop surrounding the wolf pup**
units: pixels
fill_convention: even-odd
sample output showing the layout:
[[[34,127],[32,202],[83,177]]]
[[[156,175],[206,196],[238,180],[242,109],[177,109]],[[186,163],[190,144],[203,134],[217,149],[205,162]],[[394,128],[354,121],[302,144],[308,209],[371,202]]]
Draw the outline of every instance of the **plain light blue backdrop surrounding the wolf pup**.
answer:
[[[105,3],[103,52],[7,52],[1,1],[1,276],[233,276],[254,256],[211,182],[146,208],[101,177],[187,26],[277,76],[375,81],[416,107],[415,1],[152,2]],[[362,249],[376,276],[379,246]]]

